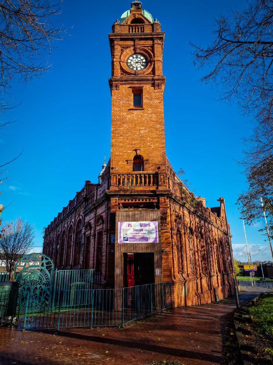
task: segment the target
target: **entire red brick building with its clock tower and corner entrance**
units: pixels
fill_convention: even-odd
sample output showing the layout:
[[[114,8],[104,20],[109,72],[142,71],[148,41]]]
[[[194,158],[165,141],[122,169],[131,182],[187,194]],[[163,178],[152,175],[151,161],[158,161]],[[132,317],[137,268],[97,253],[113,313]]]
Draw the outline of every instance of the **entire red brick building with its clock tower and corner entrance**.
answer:
[[[139,1],[113,24],[111,158],[46,228],[43,253],[107,288],[171,281],[186,306],[232,292],[229,227],[223,203],[205,207],[166,157],[164,36]]]

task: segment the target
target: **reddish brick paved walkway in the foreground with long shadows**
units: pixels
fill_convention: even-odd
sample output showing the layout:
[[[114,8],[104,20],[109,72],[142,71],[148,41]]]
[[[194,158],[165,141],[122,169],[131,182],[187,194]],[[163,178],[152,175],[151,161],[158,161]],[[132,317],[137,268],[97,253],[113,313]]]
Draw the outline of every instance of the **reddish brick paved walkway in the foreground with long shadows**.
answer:
[[[177,308],[126,328],[40,333],[0,327],[0,364],[143,365],[162,360],[221,364],[234,308],[232,301],[225,303]]]

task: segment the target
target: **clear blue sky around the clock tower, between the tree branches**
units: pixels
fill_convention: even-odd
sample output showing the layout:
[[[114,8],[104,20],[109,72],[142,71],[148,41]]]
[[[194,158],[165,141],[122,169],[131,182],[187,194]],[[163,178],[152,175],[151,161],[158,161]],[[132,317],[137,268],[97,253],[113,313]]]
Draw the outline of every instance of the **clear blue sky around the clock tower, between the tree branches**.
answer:
[[[244,5],[241,1],[240,5]],[[75,5],[76,4],[76,5]],[[1,131],[1,161],[9,179],[2,187],[1,203],[13,203],[3,220],[18,216],[35,224],[36,250],[42,246],[42,229],[73,199],[85,180],[97,182],[104,154],[110,151],[111,55],[108,33],[112,23],[130,8],[131,2],[65,0],[56,18],[67,29],[64,41],[56,42],[43,78],[24,85],[13,84],[20,105],[5,119],[16,123]],[[226,199],[234,256],[244,260],[245,238],[235,202],[246,189],[245,177],[235,160],[242,157],[242,138],[251,132],[250,120],[239,115],[237,105],[218,101],[217,92],[199,82],[203,75],[191,65],[189,41],[207,45],[215,19],[237,1],[196,0],[143,1],[166,32],[164,47],[164,96],[166,154],[174,168],[185,171],[196,194],[207,205]],[[4,121],[4,120],[3,120]],[[264,223],[246,227],[253,259],[270,260],[265,237],[258,232]]]

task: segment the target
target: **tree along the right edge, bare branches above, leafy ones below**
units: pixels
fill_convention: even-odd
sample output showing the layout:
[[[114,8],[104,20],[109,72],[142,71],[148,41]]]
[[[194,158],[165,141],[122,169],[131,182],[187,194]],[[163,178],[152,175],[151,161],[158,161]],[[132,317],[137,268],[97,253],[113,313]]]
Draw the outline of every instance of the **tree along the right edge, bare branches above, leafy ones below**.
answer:
[[[193,63],[209,67],[201,81],[212,82],[220,99],[237,101],[243,114],[253,116],[253,134],[245,140],[245,170],[249,188],[237,203],[251,224],[260,220],[264,199],[273,237],[273,0],[250,0],[243,11],[216,20],[210,46],[195,46]]]

